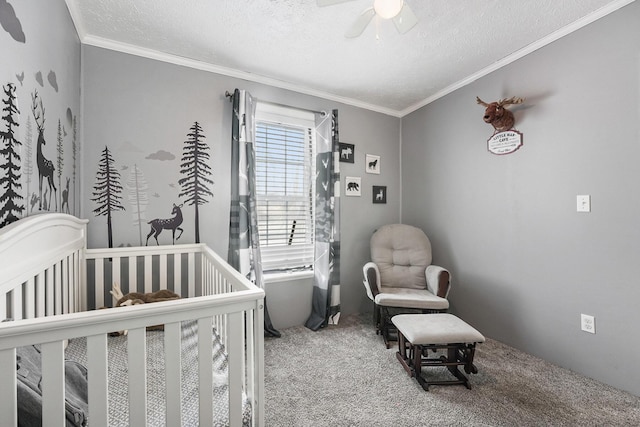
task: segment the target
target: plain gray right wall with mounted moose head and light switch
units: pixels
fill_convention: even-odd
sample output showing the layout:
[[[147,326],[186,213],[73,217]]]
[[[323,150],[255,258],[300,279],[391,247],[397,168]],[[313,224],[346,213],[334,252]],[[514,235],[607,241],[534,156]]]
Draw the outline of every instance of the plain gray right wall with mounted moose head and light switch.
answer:
[[[403,221],[453,272],[452,311],[487,336],[640,395],[640,3],[402,120]],[[485,101],[524,145],[487,151]],[[576,212],[590,194],[591,213]],[[596,334],[580,330],[595,316]]]

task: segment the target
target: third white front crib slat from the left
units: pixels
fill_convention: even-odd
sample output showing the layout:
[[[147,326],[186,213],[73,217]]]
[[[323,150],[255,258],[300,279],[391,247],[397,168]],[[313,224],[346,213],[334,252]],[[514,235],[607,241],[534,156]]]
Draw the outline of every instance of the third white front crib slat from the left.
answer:
[[[87,337],[87,376],[91,427],[107,427],[109,424],[107,372],[107,335]]]

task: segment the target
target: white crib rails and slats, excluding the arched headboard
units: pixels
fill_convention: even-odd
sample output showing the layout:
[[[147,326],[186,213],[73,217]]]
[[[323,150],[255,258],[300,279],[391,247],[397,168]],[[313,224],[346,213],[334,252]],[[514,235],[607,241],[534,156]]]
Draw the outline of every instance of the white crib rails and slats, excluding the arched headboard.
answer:
[[[75,258],[74,258],[75,257]],[[0,324],[0,425],[15,425],[16,412],[16,348],[42,344],[43,370],[43,419],[47,425],[64,425],[64,340],[87,337],[89,371],[89,418],[91,426],[107,425],[107,334],[128,330],[128,343],[144,350],[145,328],[165,325],[166,357],[179,357],[180,322],[197,320],[203,330],[215,327],[225,346],[228,358],[229,420],[230,425],[241,425],[242,392],[252,405],[253,425],[264,424],[264,292],[254,286],[206,245],[175,245],[143,248],[90,249],[72,257],[71,268],[86,278],[86,286],[80,280],[67,281],[72,285],[62,289],[64,312],[48,313],[37,309],[20,312],[23,319]],[[68,264],[69,261],[65,261]],[[58,265],[58,264],[56,264]],[[66,271],[62,264],[52,267],[52,275]],[[69,270],[71,271],[71,270]],[[40,273],[38,273],[40,274]],[[49,274],[49,273],[45,273]],[[73,282],[73,283],[71,283]],[[77,283],[76,283],[77,282]],[[162,303],[119,307],[112,310],[92,310],[112,306],[109,290],[119,282],[124,293],[151,292],[171,289],[183,299]],[[35,281],[37,284],[38,281]],[[52,293],[42,281],[43,290],[29,290],[33,286],[25,282],[15,295],[8,293],[8,302],[16,307],[38,307],[38,298],[31,297]],[[35,286],[35,285],[34,285]],[[19,301],[20,298],[26,301]],[[46,298],[42,299],[46,301]],[[8,306],[12,306],[8,304]],[[50,316],[50,314],[56,314]],[[41,316],[46,317],[41,317]],[[211,360],[211,342],[201,335],[198,360],[203,361],[200,370],[200,425],[211,425],[213,381],[212,367],[204,363]],[[211,339],[209,337],[209,339]],[[144,351],[132,352],[133,358],[141,358]],[[144,360],[130,360],[143,363]],[[176,364],[166,363],[167,372],[167,425],[180,425],[179,387],[169,387],[180,373]],[[179,366],[179,364],[177,364]],[[130,371],[130,421],[131,425],[145,425],[146,370]],[[205,387],[209,384],[208,387]]]

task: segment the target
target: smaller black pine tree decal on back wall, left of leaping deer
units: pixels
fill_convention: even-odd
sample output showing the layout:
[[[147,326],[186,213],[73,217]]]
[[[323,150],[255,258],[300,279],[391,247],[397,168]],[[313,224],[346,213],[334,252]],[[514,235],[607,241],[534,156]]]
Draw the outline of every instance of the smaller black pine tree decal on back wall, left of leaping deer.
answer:
[[[122,200],[122,185],[120,185],[120,173],[114,166],[114,160],[109,152],[109,147],[104,147],[98,172],[96,174],[96,184],[93,186],[92,201],[98,207],[93,210],[96,216],[107,217],[107,234],[109,237],[109,247],[113,247],[113,229],[111,227],[111,215],[114,211],[123,211],[124,206],[120,204]]]

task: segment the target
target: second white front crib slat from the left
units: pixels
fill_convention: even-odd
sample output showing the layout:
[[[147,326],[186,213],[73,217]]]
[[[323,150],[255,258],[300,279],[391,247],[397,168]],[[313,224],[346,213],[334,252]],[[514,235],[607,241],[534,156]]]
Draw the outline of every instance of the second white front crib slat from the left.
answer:
[[[42,344],[42,420],[65,426],[64,346],[62,341]]]

